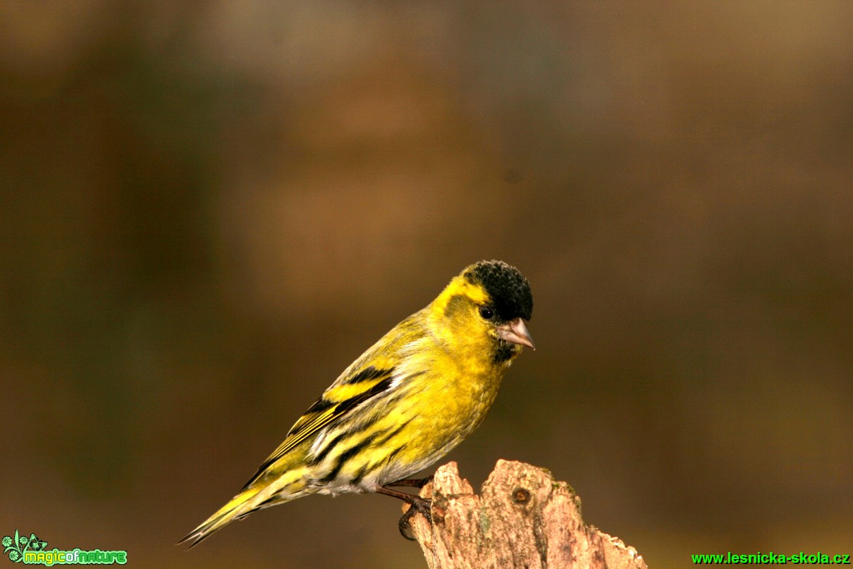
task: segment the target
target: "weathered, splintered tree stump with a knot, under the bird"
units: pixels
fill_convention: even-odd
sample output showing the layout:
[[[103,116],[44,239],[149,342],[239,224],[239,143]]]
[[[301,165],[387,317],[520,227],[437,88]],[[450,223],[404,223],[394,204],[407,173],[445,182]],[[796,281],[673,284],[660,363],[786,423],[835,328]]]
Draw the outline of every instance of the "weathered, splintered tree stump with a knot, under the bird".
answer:
[[[415,514],[411,526],[430,569],[647,569],[636,549],[583,523],[580,498],[544,468],[498,461],[477,496],[449,462],[421,496],[432,525]]]

